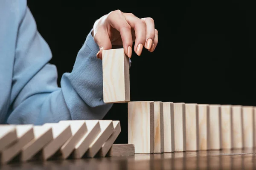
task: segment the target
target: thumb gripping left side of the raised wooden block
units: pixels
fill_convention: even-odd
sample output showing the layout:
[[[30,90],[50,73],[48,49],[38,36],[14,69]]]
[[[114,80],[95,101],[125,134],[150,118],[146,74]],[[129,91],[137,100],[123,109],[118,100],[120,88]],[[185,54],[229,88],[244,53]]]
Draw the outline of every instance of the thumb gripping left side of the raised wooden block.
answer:
[[[99,45],[99,52],[97,58],[102,59],[102,51],[110,50],[112,48],[111,40],[107,30],[100,30],[94,32],[94,41]]]

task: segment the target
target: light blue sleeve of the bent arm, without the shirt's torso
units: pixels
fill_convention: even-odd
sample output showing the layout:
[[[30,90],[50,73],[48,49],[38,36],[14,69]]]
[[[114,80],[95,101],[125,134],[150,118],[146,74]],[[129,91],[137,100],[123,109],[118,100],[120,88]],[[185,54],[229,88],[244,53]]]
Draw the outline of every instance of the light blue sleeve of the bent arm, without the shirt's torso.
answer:
[[[99,47],[92,35],[87,35],[72,72],[61,77],[60,88],[57,69],[49,64],[50,48],[38,33],[29,8],[21,16],[7,123],[102,119],[113,104],[103,102],[102,60],[96,57]]]

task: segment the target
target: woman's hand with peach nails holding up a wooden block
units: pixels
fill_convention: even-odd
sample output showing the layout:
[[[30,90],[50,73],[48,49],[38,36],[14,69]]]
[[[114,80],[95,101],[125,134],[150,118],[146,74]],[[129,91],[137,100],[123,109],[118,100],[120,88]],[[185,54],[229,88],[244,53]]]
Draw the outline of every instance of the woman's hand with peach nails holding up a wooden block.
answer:
[[[99,59],[102,59],[102,50],[112,49],[112,46],[122,46],[125,54],[131,58],[133,42],[138,56],[141,55],[143,47],[153,52],[158,42],[158,31],[152,18],[140,19],[120,10],[111,11],[96,20],[92,35],[99,45]]]

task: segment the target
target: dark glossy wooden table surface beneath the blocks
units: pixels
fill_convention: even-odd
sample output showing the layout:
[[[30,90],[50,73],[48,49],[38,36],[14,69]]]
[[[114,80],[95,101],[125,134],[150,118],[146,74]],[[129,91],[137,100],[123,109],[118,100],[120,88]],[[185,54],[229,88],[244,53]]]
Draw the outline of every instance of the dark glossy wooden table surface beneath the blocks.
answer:
[[[105,158],[12,162],[0,170],[169,170],[255,169],[256,149],[136,154]]]

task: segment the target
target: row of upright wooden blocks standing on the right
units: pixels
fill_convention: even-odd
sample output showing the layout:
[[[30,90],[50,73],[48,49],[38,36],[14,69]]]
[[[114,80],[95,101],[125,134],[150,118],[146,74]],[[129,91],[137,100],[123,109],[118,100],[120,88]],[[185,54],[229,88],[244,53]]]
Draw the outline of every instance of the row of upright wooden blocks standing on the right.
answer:
[[[128,103],[135,153],[256,147],[256,107],[141,101]]]

